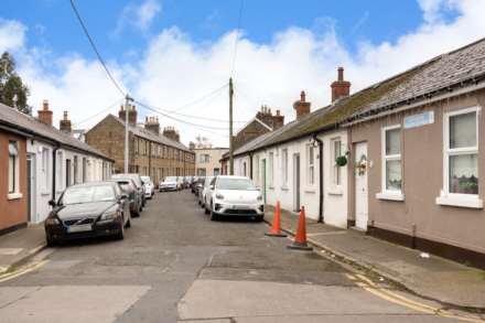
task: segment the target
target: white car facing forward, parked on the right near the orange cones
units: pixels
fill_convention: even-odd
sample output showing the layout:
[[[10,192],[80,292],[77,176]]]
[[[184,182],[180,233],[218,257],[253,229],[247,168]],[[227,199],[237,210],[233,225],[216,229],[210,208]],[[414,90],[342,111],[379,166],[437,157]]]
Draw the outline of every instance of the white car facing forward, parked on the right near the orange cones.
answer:
[[[222,216],[246,216],[257,220],[265,218],[261,192],[248,177],[214,177],[205,201],[205,209],[206,213],[211,213],[212,220]]]

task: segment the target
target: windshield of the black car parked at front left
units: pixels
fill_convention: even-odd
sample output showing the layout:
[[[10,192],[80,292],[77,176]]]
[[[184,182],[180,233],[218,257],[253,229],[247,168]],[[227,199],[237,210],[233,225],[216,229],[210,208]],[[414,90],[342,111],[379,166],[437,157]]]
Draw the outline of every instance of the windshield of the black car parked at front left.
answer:
[[[64,192],[60,204],[69,205],[115,200],[116,195],[111,185],[74,186]]]

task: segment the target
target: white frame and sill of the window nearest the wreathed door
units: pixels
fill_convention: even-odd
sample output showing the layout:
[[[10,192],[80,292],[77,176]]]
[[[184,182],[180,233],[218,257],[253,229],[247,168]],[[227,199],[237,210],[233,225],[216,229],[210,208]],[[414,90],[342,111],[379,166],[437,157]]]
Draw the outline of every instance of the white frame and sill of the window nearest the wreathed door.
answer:
[[[400,130],[400,137],[399,137],[399,153],[396,154],[386,154],[386,133],[390,130]],[[400,161],[401,162],[401,190],[387,190],[387,161]],[[402,127],[401,125],[392,125],[392,126],[386,126],[382,127],[380,131],[380,193],[376,194],[376,197],[379,200],[390,200],[390,201],[405,201],[405,194],[402,193],[402,186],[405,183],[405,176],[402,172]]]

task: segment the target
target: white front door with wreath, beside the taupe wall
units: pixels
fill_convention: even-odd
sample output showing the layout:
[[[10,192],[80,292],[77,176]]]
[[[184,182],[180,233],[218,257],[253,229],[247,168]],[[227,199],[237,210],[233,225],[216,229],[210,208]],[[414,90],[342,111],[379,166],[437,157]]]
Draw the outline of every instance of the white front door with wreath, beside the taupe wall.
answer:
[[[367,189],[367,142],[355,144],[355,226],[367,230],[368,189]],[[360,165],[360,166],[359,166]]]

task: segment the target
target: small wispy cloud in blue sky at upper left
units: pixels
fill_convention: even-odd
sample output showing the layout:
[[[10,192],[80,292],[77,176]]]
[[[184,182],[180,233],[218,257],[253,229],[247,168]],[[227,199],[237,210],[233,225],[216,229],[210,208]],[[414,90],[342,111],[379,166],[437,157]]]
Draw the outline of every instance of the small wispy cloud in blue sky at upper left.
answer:
[[[144,0],[140,6],[127,4],[118,19],[114,35],[119,35],[128,25],[147,32],[161,10],[162,6],[159,0]]]

